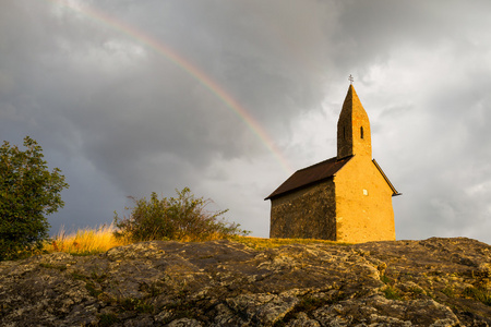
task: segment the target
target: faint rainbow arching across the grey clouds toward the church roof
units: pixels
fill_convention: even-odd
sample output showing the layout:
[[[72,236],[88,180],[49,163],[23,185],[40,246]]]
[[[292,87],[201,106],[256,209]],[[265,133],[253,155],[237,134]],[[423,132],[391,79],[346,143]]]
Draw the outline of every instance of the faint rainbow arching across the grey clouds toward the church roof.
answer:
[[[142,31],[139,31],[136,27],[125,24],[121,21],[118,21],[113,16],[110,16],[99,10],[96,10],[93,7],[83,5],[80,3],[75,3],[74,1],[69,0],[49,0],[53,3],[58,3],[64,8],[69,8],[73,11],[80,12],[86,16],[95,19],[99,22],[103,22],[106,25],[109,25],[111,28],[120,31],[130,37],[136,39],[142,45],[149,47],[157,51],[158,53],[166,57],[170,60],[175,65],[180,68],[187,74],[192,76],[194,80],[200,82],[205,88],[207,88],[212,94],[214,94],[221,102],[226,105],[228,109],[230,109],[241,121],[246,123],[248,129],[258,136],[258,138],[264,144],[264,146],[276,157],[279,161],[282,168],[286,173],[291,173],[292,168],[289,165],[288,160],[275,145],[271,136],[266,133],[266,131],[261,126],[261,124],[252,117],[251,113],[246,110],[232,96],[230,96],[220,85],[218,85],[212,77],[206,75],[202,70],[192,64],[189,60],[183,58],[182,56],[175,52],[172,49],[169,49],[166,45],[153,38],[152,36],[146,35]]]

